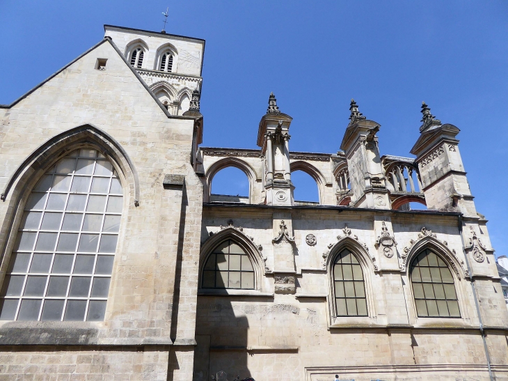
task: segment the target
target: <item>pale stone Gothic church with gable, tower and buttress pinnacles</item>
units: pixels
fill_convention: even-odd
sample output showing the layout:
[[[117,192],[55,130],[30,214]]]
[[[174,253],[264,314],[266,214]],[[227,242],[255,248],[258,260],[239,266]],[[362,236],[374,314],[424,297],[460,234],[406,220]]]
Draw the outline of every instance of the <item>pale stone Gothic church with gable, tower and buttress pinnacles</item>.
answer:
[[[105,25],[0,105],[0,380],[508,380],[459,128],[423,103],[386,155],[351,100],[336,153],[295,152],[267,93],[257,148],[208,147],[204,52]],[[228,167],[248,196],[212,194]]]

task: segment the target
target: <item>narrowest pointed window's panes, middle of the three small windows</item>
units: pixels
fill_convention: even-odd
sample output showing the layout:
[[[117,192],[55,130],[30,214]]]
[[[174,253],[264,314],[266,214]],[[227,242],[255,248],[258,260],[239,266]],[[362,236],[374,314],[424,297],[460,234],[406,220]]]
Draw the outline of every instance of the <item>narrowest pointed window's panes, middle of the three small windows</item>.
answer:
[[[344,249],[333,264],[335,311],[337,316],[367,316],[367,296],[362,266]]]

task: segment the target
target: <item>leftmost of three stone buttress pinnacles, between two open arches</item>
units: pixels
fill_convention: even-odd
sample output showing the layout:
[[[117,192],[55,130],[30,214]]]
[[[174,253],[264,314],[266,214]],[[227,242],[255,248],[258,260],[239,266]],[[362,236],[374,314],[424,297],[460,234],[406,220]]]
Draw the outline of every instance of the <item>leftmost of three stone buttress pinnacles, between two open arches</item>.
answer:
[[[264,156],[264,190],[267,205],[294,204],[289,169],[289,125],[293,118],[277,107],[273,93],[268,100],[267,114],[261,118],[257,146]]]

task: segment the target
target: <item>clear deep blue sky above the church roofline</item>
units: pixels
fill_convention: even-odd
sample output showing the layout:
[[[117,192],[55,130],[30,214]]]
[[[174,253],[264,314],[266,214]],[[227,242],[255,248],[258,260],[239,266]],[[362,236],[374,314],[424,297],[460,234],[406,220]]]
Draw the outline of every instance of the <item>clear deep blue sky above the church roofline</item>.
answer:
[[[256,148],[273,91],[294,118],[291,150],[335,153],[354,98],[381,124],[381,155],[411,157],[424,100],[461,129],[477,210],[508,254],[506,1],[2,0],[0,104],[102,40],[103,24],[160,31],[167,6],[168,33],[207,40],[205,146]],[[313,187],[302,180],[297,198]]]

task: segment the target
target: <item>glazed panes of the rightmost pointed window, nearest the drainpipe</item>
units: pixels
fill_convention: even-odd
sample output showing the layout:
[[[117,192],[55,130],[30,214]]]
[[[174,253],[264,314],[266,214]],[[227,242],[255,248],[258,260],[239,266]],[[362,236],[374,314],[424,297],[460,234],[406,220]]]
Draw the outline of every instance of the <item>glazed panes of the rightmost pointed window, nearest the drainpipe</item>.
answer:
[[[425,249],[411,263],[411,283],[419,318],[460,318],[450,268],[434,251]]]

